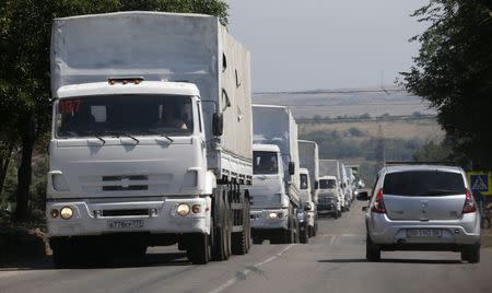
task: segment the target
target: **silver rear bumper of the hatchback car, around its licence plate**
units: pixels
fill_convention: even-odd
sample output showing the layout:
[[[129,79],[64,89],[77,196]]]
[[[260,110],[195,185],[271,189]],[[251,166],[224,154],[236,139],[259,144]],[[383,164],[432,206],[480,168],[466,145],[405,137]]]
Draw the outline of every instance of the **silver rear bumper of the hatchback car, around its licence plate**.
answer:
[[[480,219],[477,214],[464,214],[459,220],[447,221],[394,221],[386,214],[371,213],[367,221],[371,239],[375,244],[424,248],[460,246],[480,243]],[[438,230],[441,236],[410,236],[409,230]],[[438,249],[432,249],[438,250]]]

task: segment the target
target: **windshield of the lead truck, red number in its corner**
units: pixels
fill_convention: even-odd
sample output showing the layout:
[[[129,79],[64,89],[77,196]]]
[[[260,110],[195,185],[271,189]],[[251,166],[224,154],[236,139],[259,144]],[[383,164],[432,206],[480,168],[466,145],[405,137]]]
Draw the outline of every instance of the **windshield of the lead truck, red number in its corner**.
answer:
[[[97,95],[62,98],[56,133],[61,138],[110,134],[187,136],[194,130],[189,96]]]

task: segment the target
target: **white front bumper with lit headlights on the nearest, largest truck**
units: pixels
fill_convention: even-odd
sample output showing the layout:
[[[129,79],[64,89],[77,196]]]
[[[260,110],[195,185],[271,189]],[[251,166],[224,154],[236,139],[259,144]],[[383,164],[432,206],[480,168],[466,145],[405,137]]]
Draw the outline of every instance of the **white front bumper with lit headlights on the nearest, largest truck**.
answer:
[[[189,213],[179,215],[179,204],[187,204]],[[192,207],[199,206],[200,211],[194,212]],[[65,220],[54,211],[70,208],[72,216]],[[99,199],[57,200],[46,203],[47,225],[50,237],[102,235],[125,232],[148,233],[210,233],[210,197],[192,198],[156,198],[118,199],[101,202]],[[147,212],[145,212],[147,211]]]

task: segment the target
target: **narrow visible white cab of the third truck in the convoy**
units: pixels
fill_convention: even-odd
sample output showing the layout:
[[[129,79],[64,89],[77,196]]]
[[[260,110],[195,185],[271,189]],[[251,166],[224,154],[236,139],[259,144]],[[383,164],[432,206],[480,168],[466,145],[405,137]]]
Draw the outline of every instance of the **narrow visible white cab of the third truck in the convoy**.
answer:
[[[301,201],[301,209],[306,211],[306,228],[307,228],[307,236],[313,237],[315,234],[315,224],[316,224],[316,204],[313,201],[313,192],[309,179],[309,171],[307,168],[301,168],[300,169],[300,201]],[[302,239],[302,225],[300,222],[300,235]]]

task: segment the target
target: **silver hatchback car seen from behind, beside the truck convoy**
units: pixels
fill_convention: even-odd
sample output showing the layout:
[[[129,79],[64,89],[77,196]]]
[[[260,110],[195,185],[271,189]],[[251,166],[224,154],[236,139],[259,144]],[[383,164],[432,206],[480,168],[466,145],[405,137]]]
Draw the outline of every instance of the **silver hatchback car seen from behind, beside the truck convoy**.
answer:
[[[480,215],[460,167],[386,166],[358,199],[370,201],[367,260],[379,260],[382,250],[448,250],[480,261]]]

